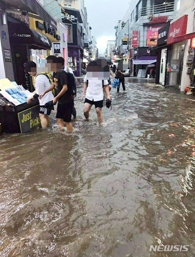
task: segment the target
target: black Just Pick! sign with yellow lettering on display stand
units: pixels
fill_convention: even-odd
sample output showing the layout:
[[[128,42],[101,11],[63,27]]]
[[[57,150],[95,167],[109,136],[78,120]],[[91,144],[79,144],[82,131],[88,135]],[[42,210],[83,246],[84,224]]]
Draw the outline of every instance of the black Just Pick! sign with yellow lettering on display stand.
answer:
[[[35,127],[41,125],[39,119],[40,106],[36,105],[18,113],[19,126],[21,133],[27,133]]]

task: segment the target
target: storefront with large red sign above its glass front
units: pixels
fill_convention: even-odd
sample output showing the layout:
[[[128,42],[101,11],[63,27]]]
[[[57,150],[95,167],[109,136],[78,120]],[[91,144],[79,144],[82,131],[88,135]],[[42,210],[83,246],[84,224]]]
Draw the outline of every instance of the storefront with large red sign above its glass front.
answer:
[[[170,24],[167,45],[170,46],[167,54],[166,86],[180,88],[184,64],[186,41],[175,43],[179,36],[186,35],[188,15],[184,15]]]

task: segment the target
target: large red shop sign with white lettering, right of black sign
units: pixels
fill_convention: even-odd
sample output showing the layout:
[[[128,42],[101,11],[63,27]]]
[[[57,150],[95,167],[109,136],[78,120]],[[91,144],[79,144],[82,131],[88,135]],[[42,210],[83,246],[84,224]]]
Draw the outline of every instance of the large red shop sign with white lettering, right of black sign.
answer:
[[[185,35],[187,30],[188,15],[184,15],[170,24],[167,44],[174,43],[174,38]]]

